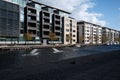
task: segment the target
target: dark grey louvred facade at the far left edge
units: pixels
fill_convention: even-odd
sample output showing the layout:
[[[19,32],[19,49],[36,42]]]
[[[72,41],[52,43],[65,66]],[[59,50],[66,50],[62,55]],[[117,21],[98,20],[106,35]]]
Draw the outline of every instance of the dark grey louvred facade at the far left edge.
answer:
[[[0,0],[0,43],[19,38],[19,5]]]

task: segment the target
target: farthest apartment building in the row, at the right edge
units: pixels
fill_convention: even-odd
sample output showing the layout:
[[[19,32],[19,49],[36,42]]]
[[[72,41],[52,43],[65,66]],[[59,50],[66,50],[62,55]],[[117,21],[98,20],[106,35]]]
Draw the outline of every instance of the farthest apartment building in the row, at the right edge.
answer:
[[[119,31],[107,27],[102,28],[103,43],[118,44]]]

